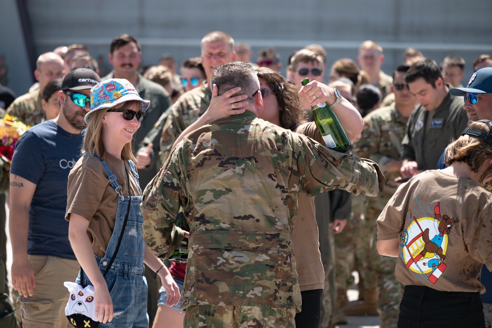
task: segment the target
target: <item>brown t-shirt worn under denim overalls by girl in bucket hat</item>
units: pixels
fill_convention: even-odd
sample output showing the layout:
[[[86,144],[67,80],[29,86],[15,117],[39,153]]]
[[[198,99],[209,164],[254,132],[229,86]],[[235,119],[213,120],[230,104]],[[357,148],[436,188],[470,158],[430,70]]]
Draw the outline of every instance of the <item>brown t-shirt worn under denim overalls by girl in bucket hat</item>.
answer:
[[[130,178],[130,194],[140,195],[138,184],[126,161],[109,155],[105,162],[117,176],[123,195],[128,195],[125,166]],[[68,175],[65,219],[77,214],[88,219],[87,234],[97,256],[104,256],[115,227],[118,194],[109,184],[102,163],[93,156],[81,157]]]

